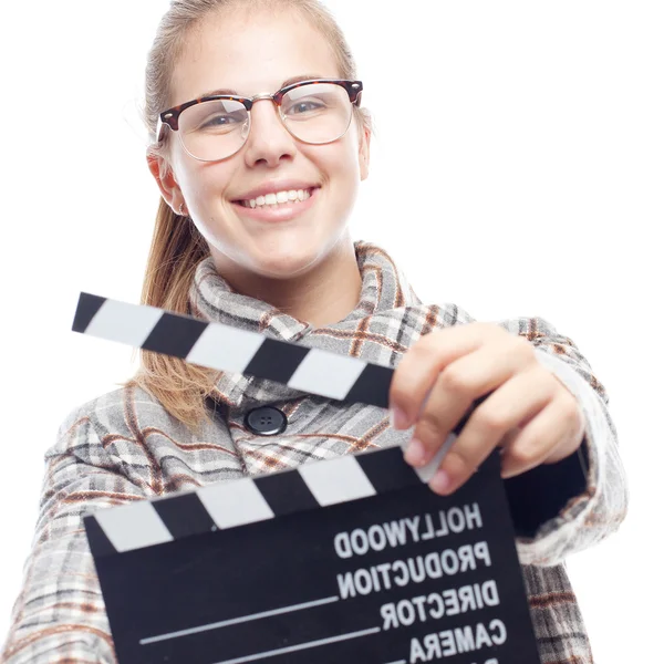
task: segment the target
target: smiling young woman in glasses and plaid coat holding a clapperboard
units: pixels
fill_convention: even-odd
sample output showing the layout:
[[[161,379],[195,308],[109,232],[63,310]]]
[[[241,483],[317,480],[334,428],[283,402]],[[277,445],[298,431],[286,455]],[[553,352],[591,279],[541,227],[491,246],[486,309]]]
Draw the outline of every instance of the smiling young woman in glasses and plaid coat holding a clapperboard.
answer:
[[[592,661],[562,562],[625,511],[604,391],[547,322],[424,305],[385,251],[353,242],[371,144],[361,96],[317,0],[173,0],[146,72],[162,200],[144,302],[397,365],[391,417],[144,353],[46,453],[3,661],[114,661],[83,513],[396,444],[422,466],[483,396],[430,488],[455,491],[500,446],[541,661]]]

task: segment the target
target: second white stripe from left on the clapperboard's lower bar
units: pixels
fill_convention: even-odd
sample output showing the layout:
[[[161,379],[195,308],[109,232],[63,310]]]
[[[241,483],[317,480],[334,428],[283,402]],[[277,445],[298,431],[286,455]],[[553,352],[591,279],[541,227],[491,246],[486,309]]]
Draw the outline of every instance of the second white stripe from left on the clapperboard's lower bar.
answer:
[[[232,528],[274,517],[274,512],[249,477],[210,485],[196,492],[219,528]]]

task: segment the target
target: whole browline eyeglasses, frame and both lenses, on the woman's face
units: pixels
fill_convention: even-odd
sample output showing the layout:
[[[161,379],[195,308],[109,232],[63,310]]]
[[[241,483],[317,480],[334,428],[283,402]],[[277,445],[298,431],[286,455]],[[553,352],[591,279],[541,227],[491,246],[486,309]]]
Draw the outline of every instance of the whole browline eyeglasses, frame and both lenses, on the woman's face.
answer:
[[[159,114],[157,144],[168,127],[177,132],[183,147],[195,159],[226,159],[247,142],[251,107],[259,100],[272,100],[292,136],[303,143],[323,145],[347,132],[353,105],[359,107],[362,100],[362,82],[321,79],[301,81],[274,94],[250,98],[220,94],[193,100]]]

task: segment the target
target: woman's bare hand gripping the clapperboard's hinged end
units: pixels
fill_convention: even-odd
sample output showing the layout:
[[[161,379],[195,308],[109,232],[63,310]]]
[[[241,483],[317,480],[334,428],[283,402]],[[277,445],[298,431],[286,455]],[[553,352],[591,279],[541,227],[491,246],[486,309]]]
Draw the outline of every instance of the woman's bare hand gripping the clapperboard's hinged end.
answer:
[[[497,446],[502,477],[512,477],[568,457],[583,440],[575,397],[539,363],[532,344],[496,324],[471,323],[423,336],[395,370],[394,427],[415,425],[406,461],[425,466],[485,395],[429,483],[436,494],[455,491]]]

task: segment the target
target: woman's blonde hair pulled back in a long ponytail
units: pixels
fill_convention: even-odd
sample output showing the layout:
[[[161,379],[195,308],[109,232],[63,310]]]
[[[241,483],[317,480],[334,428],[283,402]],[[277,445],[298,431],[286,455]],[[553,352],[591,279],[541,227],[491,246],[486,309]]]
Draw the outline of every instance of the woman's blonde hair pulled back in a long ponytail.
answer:
[[[164,14],[147,58],[145,71],[144,120],[155,135],[158,114],[170,100],[170,77],[187,35],[211,13],[242,10],[299,11],[331,45],[339,75],[354,80],[356,65],[349,44],[330,11],[319,0],[172,0]],[[372,131],[371,116],[353,106],[361,127]],[[163,146],[153,146],[164,157]],[[159,159],[159,168],[167,168]],[[163,173],[164,175],[164,173]],[[157,209],[152,246],[147,259],[141,301],[169,311],[191,314],[189,288],[201,260],[209,256],[203,236],[188,217],[175,214],[162,199]],[[141,367],[129,384],[159,400],[166,411],[193,429],[208,418],[205,400],[214,392],[218,372],[187,364],[177,357],[141,351]]]

